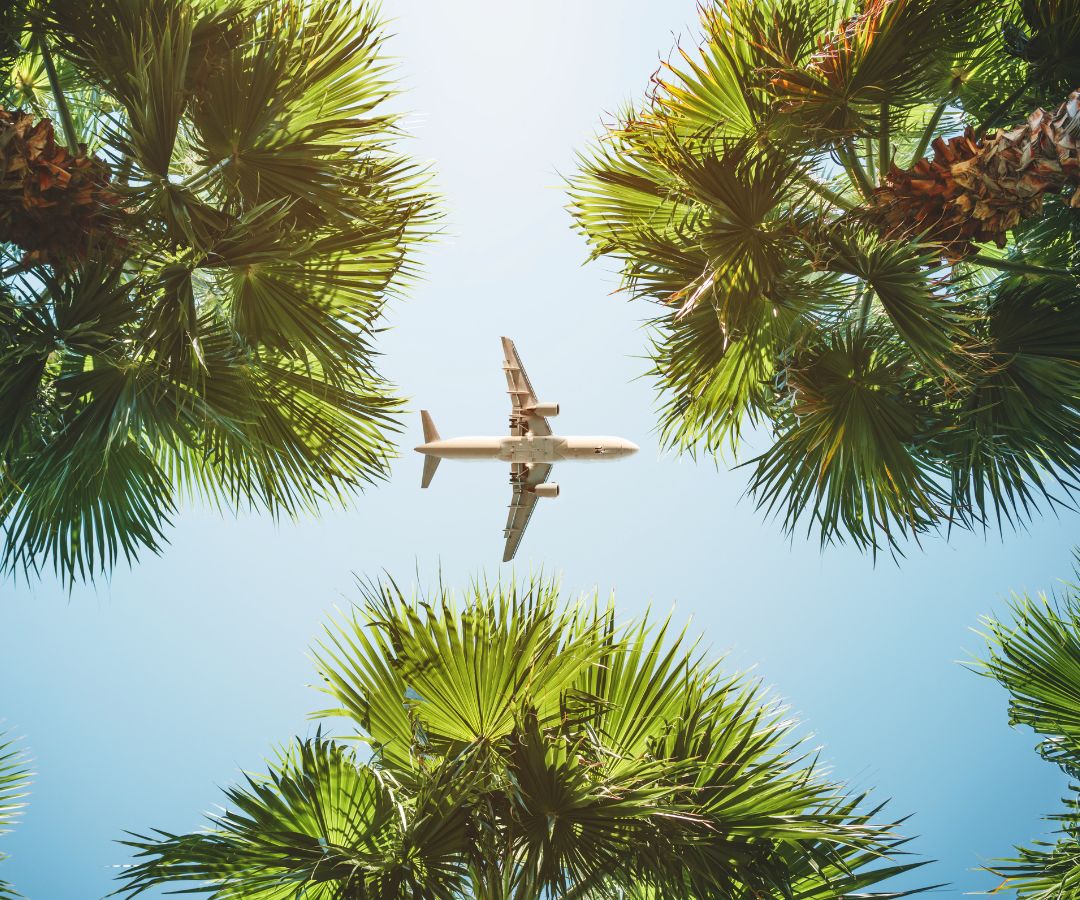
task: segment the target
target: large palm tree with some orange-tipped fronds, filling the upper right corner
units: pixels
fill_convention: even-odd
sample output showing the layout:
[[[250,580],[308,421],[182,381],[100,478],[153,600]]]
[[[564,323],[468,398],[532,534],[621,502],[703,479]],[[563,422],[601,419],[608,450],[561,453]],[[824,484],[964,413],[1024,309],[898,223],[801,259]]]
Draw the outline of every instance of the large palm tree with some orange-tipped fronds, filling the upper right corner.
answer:
[[[875,552],[1067,502],[1080,4],[713,0],[702,27],[571,183],[660,306],[666,444],[767,430],[758,506]]]

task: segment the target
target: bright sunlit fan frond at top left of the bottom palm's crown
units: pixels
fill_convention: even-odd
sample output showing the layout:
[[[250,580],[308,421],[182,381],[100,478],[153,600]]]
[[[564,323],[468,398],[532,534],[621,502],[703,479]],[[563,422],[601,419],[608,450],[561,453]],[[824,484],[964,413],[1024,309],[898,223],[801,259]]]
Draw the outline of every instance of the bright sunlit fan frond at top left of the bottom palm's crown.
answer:
[[[420,752],[447,754],[505,739],[527,709],[544,723],[557,718],[564,694],[599,653],[576,624],[577,614],[558,610],[552,581],[534,579],[522,589],[476,583],[463,604],[447,588],[411,601],[393,582],[364,591],[361,612],[328,630],[316,662],[330,694],[380,747],[407,737]],[[392,653],[392,677],[373,652]],[[360,680],[347,681],[337,666]],[[400,704],[416,726],[403,731],[401,714],[390,711],[386,721],[396,734],[376,731],[382,716],[373,720],[372,712],[387,702]]]

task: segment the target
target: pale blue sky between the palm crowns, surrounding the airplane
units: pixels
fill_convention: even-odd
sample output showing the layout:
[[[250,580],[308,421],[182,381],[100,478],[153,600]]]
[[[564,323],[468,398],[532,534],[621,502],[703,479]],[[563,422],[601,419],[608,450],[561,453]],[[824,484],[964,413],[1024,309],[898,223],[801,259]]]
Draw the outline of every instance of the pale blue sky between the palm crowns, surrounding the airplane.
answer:
[[[68,593],[0,586],[0,722],[36,773],[0,877],[30,900],[98,898],[129,861],[125,831],[198,828],[219,789],[292,735],[322,698],[308,655],[357,577],[406,585],[558,575],[568,595],[615,592],[620,614],[674,610],[731,669],[785,698],[833,774],[912,815],[918,873],[946,892],[1045,833],[1058,771],[1010,729],[1004,693],[962,662],[978,617],[1010,591],[1070,575],[1080,516],[1025,533],[955,535],[901,565],[789,539],[743,497],[744,471],[662,453],[644,377],[650,309],[586,264],[564,177],[602,122],[640,96],[696,0],[386,0],[414,138],[445,233],[394,305],[383,372],[409,398],[391,480],[348,510],[274,523],[188,506],[172,543]],[[564,433],[620,434],[627,460],[563,465],[514,566],[499,564],[509,500],[495,462],[444,462],[419,489],[420,408],[443,436],[500,433],[499,336],[517,344]],[[161,895],[148,895],[157,897]]]

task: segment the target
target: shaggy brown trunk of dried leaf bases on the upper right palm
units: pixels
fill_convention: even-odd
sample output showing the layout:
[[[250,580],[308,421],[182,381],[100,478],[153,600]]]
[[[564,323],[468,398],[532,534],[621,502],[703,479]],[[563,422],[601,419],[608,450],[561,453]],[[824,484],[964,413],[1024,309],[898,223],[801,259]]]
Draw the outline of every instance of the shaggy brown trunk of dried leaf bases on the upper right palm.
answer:
[[[933,157],[910,169],[889,171],[870,211],[882,230],[918,237],[953,260],[977,253],[977,244],[1005,246],[1008,232],[1038,215],[1047,193],[1077,186],[1080,206],[1080,91],[1053,113],[1037,109],[1027,123],[976,139],[934,140]]]

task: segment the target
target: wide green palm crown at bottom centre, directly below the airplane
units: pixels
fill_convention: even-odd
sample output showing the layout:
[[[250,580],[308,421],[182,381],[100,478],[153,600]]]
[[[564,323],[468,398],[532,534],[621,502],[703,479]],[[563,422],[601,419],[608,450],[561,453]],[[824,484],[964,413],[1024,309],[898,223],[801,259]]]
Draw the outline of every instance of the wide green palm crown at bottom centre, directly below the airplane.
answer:
[[[120,894],[810,900],[921,864],[670,620],[545,579],[363,600],[314,650],[347,736],[284,750],[206,831],[133,836]]]

